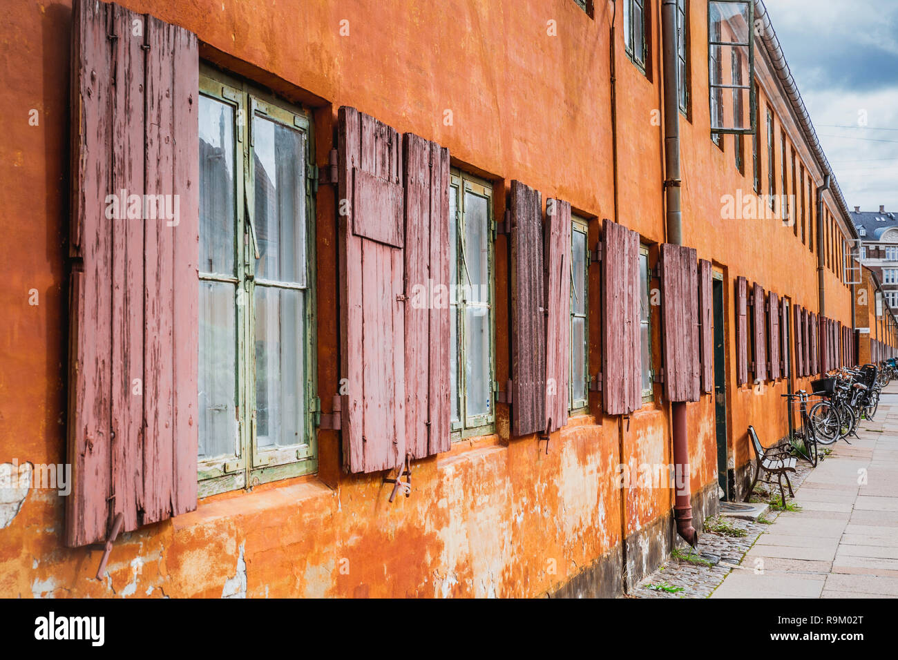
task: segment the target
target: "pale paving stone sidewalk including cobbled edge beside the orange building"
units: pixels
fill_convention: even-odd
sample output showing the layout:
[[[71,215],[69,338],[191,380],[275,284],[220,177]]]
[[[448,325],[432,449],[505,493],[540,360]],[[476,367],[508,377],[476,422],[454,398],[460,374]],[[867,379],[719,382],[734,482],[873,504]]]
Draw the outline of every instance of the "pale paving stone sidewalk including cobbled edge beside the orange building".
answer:
[[[720,555],[718,566],[672,558],[629,595],[898,595],[898,383],[885,389],[876,420],[862,421],[858,435],[851,445],[834,444],[813,470],[799,462],[791,479],[800,510],[770,511],[770,524],[727,519],[747,535],[700,534],[698,552]]]

